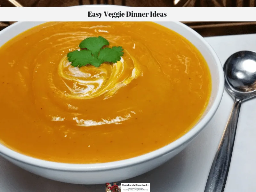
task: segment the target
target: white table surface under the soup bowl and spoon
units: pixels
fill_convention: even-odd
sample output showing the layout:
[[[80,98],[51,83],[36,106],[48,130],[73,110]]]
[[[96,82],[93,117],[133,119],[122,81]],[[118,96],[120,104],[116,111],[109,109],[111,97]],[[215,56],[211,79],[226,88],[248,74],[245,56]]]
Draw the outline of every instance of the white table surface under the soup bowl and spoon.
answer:
[[[256,51],[256,34],[205,38],[221,63],[237,51]],[[164,165],[125,182],[150,182],[151,192],[204,192],[213,157],[233,101],[224,92],[211,122],[195,140]],[[256,99],[242,104],[225,192],[256,191]],[[108,182],[108,181],[106,181]],[[119,182],[119,181],[118,181]],[[101,192],[103,185],[75,185],[48,180],[0,157],[0,192]]]

